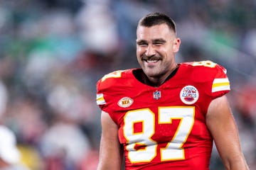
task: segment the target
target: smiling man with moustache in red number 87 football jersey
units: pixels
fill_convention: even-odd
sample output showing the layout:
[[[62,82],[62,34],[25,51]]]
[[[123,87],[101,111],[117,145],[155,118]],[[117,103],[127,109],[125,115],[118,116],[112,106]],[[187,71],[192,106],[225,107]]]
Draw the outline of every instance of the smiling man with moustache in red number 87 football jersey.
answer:
[[[142,69],[97,82],[102,109],[98,170],[209,169],[213,140],[226,169],[248,169],[227,98],[226,70],[210,61],[177,64],[174,21],[151,13],[137,27]]]

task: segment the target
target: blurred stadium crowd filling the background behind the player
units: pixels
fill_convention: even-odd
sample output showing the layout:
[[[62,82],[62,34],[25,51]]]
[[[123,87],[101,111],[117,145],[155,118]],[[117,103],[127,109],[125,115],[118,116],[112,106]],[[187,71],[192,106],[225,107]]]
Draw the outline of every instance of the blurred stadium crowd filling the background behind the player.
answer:
[[[176,21],[178,62],[213,60],[228,69],[242,150],[256,169],[255,8],[255,0],[0,0],[0,124],[14,132],[21,163],[96,169],[95,84],[139,67],[137,22],[161,11]],[[215,148],[211,169],[223,169]]]

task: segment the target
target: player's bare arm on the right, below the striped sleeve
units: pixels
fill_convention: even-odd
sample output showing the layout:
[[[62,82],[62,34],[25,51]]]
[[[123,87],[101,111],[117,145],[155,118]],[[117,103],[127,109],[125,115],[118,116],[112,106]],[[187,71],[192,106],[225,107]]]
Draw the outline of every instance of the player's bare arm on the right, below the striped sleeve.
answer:
[[[206,124],[226,169],[247,169],[238,128],[226,96],[215,98],[208,108]]]

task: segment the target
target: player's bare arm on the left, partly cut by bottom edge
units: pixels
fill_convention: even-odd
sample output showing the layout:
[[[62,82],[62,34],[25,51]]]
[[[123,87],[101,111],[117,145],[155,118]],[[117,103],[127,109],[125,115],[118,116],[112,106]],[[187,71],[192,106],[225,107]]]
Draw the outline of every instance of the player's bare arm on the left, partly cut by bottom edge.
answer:
[[[122,148],[118,140],[118,127],[105,111],[102,111],[101,124],[100,162],[97,169],[119,170],[122,168]]]

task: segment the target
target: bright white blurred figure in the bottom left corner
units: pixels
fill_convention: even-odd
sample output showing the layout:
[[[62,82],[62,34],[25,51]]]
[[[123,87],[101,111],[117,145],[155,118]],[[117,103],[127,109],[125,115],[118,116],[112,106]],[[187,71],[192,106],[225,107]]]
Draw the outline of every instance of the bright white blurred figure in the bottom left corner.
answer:
[[[21,164],[21,153],[16,146],[14,132],[0,125],[0,170],[28,170]]]

